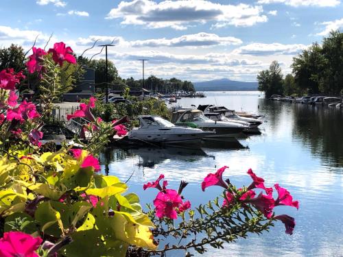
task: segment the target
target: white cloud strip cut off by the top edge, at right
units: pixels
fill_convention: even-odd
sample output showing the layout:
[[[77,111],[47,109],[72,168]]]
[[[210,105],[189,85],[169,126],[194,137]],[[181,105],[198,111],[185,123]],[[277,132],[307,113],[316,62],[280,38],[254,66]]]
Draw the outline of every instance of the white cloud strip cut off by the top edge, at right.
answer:
[[[285,5],[298,6],[316,6],[333,7],[340,4],[340,0],[259,0],[259,4],[284,3]]]

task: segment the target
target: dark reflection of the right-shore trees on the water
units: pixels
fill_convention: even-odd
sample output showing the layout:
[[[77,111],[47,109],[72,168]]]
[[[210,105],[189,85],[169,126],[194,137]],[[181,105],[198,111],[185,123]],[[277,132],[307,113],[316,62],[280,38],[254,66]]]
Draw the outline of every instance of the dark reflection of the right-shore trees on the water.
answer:
[[[322,106],[294,105],[293,136],[300,138],[312,154],[343,166],[343,112]]]

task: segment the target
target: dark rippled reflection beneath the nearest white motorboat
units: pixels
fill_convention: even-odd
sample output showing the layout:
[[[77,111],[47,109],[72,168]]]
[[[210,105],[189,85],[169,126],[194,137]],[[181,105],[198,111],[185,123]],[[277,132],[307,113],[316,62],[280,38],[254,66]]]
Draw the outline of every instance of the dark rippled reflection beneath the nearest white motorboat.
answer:
[[[164,162],[165,160],[183,160],[186,162],[194,162],[207,156],[206,153],[200,148],[130,147],[127,148],[126,151],[130,154],[140,156],[143,160],[143,163],[140,163],[139,165],[150,168],[153,168],[154,165]]]

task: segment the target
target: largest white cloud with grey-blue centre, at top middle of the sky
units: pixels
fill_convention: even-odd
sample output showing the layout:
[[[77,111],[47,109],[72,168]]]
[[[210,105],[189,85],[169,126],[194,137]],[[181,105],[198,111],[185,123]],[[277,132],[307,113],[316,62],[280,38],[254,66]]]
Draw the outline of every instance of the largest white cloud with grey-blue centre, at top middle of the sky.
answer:
[[[214,27],[252,26],[268,21],[261,6],[244,3],[226,5],[206,0],[121,1],[110,10],[106,19],[122,19],[123,25],[144,25],[150,28],[187,29],[192,23],[214,22]]]

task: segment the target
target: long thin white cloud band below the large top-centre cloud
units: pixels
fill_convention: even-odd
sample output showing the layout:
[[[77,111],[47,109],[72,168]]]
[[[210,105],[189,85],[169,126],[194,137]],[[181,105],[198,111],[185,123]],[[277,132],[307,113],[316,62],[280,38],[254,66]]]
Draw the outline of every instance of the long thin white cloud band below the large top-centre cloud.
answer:
[[[99,40],[97,45],[113,42],[115,45],[123,47],[213,47],[218,45],[241,45],[242,41],[233,36],[218,36],[200,32],[198,34],[183,35],[178,38],[154,38],[147,40],[126,41],[121,37],[110,36],[89,36],[88,38],[78,38],[77,45],[93,45],[95,40]]]

